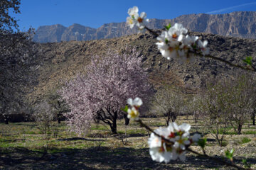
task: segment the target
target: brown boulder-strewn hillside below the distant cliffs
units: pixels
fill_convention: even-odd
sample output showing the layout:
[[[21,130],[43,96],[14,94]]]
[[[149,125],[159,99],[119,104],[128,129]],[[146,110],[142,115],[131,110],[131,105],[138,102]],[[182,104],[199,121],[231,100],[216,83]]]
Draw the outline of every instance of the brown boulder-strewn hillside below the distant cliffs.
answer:
[[[221,57],[234,63],[242,63],[246,56],[256,58],[256,40],[231,38],[206,33],[190,33],[208,40],[210,55]],[[59,89],[65,80],[72,79],[78,72],[85,73],[90,56],[104,57],[108,50],[122,52],[125,47],[136,47],[143,57],[143,67],[149,73],[154,88],[163,84],[181,86],[188,93],[195,92],[206,79],[235,77],[241,69],[230,67],[222,62],[198,57],[194,62],[180,63],[180,60],[166,60],[161,57],[155,45],[156,38],[149,33],[128,35],[122,38],[105,40],[54,42],[41,44],[43,59],[38,72],[39,84],[31,94],[37,101],[46,94]]]

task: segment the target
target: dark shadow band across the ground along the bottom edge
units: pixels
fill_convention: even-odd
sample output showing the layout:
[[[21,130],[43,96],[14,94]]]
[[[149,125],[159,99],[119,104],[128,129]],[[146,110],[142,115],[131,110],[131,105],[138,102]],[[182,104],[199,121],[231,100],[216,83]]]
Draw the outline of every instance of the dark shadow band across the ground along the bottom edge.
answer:
[[[92,147],[54,151],[43,154],[24,148],[0,148],[0,169],[227,169],[194,156],[188,156],[186,162],[153,162],[148,149]],[[236,161],[242,162],[242,158]],[[247,159],[247,162],[256,164],[256,159]]]

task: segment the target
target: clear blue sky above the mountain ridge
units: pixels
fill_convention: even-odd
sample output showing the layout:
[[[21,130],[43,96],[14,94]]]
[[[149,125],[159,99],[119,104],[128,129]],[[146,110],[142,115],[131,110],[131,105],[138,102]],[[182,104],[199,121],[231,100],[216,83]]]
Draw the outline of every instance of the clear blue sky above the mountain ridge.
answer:
[[[139,7],[147,18],[171,19],[191,13],[230,13],[256,11],[256,0],[21,0],[21,14],[13,15],[21,30],[30,26],[62,24],[99,28],[104,23],[126,21],[127,10]]]

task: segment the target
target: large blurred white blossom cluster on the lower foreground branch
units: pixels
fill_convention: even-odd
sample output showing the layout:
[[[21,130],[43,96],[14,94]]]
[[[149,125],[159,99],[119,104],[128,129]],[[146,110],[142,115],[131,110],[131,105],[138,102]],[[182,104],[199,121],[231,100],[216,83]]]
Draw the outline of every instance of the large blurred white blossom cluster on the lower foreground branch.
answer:
[[[186,159],[186,147],[191,145],[191,138],[189,137],[189,130],[191,125],[183,123],[177,125],[170,123],[167,128],[159,128],[154,130],[156,134],[151,133],[148,144],[149,154],[156,162],[169,162],[170,160]],[[165,138],[165,140],[164,140]],[[169,140],[166,142],[166,140]],[[198,135],[192,137],[193,140],[198,140]]]

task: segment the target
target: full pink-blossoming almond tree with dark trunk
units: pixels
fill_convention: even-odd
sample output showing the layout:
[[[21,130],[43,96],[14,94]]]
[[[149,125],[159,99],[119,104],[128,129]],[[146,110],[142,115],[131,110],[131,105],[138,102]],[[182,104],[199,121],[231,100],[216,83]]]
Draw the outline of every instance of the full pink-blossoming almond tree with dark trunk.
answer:
[[[75,132],[86,132],[93,119],[110,125],[117,133],[117,119],[124,117],[121,107],[127,98],[140,96],[146,101],[151,86],[142,69],[141,57],[135,50],[105,57],[91,57],[85,76],[78,75],[65,84],[60,95],[70,106],[66,116]]]

